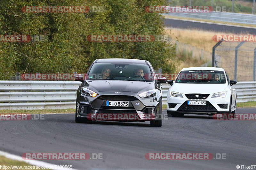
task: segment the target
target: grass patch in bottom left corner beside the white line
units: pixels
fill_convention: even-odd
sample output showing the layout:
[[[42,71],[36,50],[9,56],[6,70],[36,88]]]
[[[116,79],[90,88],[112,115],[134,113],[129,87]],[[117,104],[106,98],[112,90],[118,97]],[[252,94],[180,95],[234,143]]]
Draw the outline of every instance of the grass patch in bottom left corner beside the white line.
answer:
[[[0,156],[0,165],[1,166],[10,166],[10,165],[12,165],[12,166],[22,166],[22,168],[13,168],[15,170],[23,170],[23,169],[27,170],[26,167],[25,168],[23,168],[23,167],[24,166],[33,166],[33,165],[27,164],[26,162],[23,162],[23,161],[18,161],[18,160],[12,160],[12,159],[9,159],[9,158],[5,158],[4,156]],[[36,167],[36,166],[34,166],[34,167]],[[0,168],[0,169],[2,170],[4,168]],[[34,169],[36,169],[36,168],[34,168]]]

